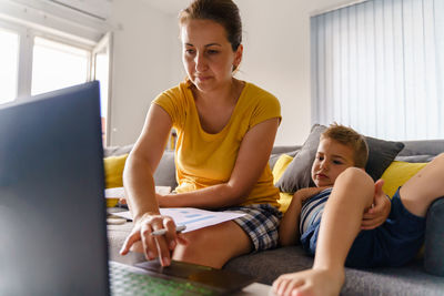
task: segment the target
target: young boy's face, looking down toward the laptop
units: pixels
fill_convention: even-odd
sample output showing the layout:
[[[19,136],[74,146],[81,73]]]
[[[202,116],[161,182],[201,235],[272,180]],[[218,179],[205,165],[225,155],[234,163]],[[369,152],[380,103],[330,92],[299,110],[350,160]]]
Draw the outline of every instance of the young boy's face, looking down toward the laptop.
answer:
[[[354,166],[353,149],[332,139],[322,139],[312,166],[312,178],[317,187],[332,186],[336,177]]]

